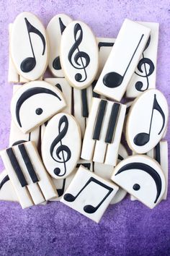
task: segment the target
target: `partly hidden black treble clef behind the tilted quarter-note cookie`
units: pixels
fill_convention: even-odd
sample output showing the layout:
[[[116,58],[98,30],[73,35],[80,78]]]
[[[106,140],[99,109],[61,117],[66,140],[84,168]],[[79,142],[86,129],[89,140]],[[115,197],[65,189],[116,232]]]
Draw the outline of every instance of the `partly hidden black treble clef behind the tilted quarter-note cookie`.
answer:
[[[137,66],[139,72],[143,73],[142,66],[144,65],[144,69],[145,69],[146,74],[142,75],[142,74],[138,74],[138,72],[135,72],[135,74],[138,74],[139,77],[146,77],[146,82],[147,82],[146,89],[142,89],[143,88],[143,82],[138,81],[138,82],[135,83],[136,90],[138,90],[140,92],[144,92],[145,90],[148,89],[148,86],[149,86],[148,77],[153,73],[153,71],[155,69],[153,61],[151,61],[151,59],[145,58],[145,56],[144,56],[144,51],[146,51],[150,42],[151,42],[151,35],[149,36],[148,42],[146,43],[146,47],[143,50],[143,54],[142,54],[143,58],[140,59],[140,61],[138,62],[138,66]],[[146,64],[148,64],[148,66],[149,66],[148,72],[147,72],[147,69],[146,69]]]

